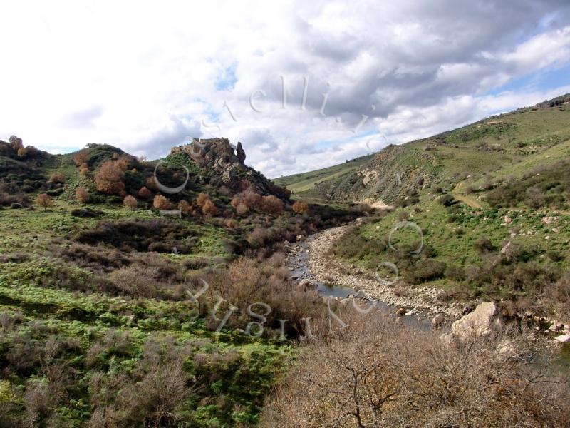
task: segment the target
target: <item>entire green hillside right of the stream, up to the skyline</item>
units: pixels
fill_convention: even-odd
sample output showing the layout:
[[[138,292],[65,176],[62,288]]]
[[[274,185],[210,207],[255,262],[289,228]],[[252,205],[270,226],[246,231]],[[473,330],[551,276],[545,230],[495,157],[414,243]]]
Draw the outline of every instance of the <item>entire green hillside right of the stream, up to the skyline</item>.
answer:
[[[428,305],[495,300],[570,320],[568,99],[388,146],[316,185],[321,198],[393,205],[350,228],[331,257],[390,280],[381,264],[393,263],[395,292],[441,290]]]

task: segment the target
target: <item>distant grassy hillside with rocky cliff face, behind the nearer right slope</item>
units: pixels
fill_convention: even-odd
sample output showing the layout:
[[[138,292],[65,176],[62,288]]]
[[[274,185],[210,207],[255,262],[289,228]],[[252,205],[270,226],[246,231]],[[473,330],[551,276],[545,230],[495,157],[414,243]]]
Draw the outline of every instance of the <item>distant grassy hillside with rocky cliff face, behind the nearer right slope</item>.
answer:
[[[415,190],[458,180],[465,188],[487,175],[522,177],[528,168],[568,156],[570,94],[485,118],[400,146],[390,145],[357,168],[350,163],[277,180],[301,196],[393,204]],[[327,173],[331,171],[331,173]]]

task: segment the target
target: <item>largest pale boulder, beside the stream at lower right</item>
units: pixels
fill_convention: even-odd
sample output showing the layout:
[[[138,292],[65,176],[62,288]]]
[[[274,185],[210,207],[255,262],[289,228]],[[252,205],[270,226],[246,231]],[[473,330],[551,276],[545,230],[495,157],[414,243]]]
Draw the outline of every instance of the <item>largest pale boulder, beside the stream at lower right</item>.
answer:
[[[482,337],[503,327],[504,322],[499,314],[499,308],[494,302],[483,302],[473,312],[461,317],[451,325],[452,335],[467,339]]]

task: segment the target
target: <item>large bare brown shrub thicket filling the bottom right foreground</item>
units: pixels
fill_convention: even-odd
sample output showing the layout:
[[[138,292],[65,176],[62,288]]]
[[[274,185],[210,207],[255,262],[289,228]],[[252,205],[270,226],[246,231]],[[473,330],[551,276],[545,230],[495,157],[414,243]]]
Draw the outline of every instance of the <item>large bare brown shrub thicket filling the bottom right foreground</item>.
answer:
[[[311,345],[261,427],[568,426],[569,387],[544,342],[507,332],[448,345],[375,311],[351,314]]]

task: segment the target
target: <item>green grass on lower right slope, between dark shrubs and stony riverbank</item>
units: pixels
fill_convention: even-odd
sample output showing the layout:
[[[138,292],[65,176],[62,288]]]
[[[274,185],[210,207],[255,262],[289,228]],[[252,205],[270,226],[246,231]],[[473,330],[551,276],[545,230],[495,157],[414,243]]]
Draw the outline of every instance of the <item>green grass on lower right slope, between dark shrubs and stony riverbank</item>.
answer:
[[[505,243],[511,241],[524,248],[536,248],[538,253],[533,259],[540,265],[555,266],[563,271],[570,267],[569,215],[560,215],[549,209],[509,210],[488,207],[477,209],[462,203],[457,203],[450,210],[435,200],[427,190],[420,192],[420,202],[415,208],[394,210],[382,218],[356,228],[351,233],[360,235],[366,241],[386,243],[391,230],[400,222],[401,213],[405,211],[408,213],[408,220],[423,230],[424,245],[425,249],[429,248],[430,260],[445,263],[447,267],[465,268],[482,265],[485,256],[475,246],[477,240],[482,237],[488,238],[497,252]],[[505,223],[505,216],[510,218],[512,223]],[[555,216],[557,220],[551,225],[545,225],[542,219],[546,216]],[[454,221],[450,221],[451,218]],[[512,235],[514,228],[519,229],[516,235]],[[419,235],[415,230],[404,228],[393,233],[392,243],[397,249],[402,245],[417,248],[418,239]],[[347,243],[346,239],[341,240],[340,248]],[[375,270],[384,261],[391,261],[396,265],[400,261],[402,267],[402,260],[398,260],[392,250],[383,246],[379,249],[377,247],[375,250],[373,247],[365,252],[360,249],[349,250],[345,252],[343,258],[348,263],[369,270]],[[552,261],[548,253],[559,254],[560,260]],[[442,288],[456,285],[454,280],[448,278],[424,283]]]

